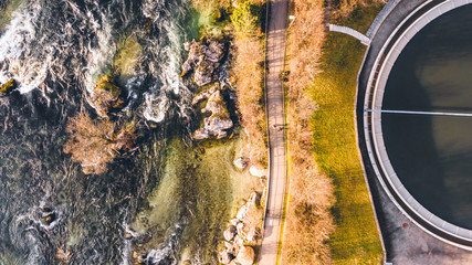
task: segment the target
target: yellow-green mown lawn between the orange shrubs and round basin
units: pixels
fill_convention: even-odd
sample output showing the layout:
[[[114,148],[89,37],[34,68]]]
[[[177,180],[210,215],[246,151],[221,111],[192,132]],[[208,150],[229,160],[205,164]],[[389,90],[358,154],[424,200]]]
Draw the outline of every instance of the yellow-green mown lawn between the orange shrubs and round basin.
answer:
[[[349,15],[336,18],[343,25],[366,32],[382,4],[366,3]],[[318,105],[311,127],[313,150],[321,171],[333,179],[336,202],[329,236],[336,264],[380,264],[382,248],[356,147],[354,102],[357,73],[366,47],[354,38],[328,33],[319,74],[311,94]]]

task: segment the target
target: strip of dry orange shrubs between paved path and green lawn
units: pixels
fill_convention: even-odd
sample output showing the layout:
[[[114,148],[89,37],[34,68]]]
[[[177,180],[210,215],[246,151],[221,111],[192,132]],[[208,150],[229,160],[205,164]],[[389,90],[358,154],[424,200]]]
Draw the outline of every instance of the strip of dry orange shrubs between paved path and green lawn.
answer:
[[[291,85],[287,121],[291,158],[290,199],[282,250],[283,264],[331,264],[326,241],[334,230],[329,208],[332,180],[321,173],[312,152],[311,118],[316,104],[307,87],[318,68],[325,38],[323,0],[295,0],[291,34]]]

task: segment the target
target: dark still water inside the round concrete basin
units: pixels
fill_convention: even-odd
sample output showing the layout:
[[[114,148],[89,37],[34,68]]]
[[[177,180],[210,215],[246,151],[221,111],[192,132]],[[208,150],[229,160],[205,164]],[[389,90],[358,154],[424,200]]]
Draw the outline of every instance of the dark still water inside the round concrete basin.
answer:
[[[472,113],[472,6],[421,30],[390,73],[384,109]],[[382,115],[391,163],[429,211],[472,229],[472,118]]]

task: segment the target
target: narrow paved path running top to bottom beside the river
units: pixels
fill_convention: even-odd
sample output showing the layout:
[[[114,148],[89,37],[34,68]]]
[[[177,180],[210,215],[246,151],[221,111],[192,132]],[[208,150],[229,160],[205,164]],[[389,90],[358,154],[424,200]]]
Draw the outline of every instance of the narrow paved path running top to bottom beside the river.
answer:
[[[268,209],[264,221],[260,265],[275,265],[282,229],[282,212],[286,182],[286,145],[284,93],[279,74],[283,70],[287,0],[271,0],[268,28],[266,99],[271,171],[269,178]]]

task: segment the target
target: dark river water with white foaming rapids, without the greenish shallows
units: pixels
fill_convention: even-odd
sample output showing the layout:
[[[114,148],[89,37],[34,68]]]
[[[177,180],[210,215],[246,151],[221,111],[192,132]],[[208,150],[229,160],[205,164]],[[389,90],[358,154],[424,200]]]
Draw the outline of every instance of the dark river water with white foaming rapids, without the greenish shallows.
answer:
[[[19,1],[0,31],[0,84],[18,84],[0,97],[0,264],[54,264],[57,250],[73,253],[70,264],[127,264],[126,224],[158,181],[170,134],[164,124],[187,131],[192,113],[192,92],[179,77],[182,44],[195,36],[188,2],[0,0],[0,7]],[[159,129],[144,130],[139,156],[104,176],[83,176],[62,151],[65,126],[80,110],[94,113],[95,82],[113,71],[128,36],[143,51],[133,74],[122,76],[127,105],[114,119]],[[55,214],[50,225],[44,208]],[[169,236],[148,263],[175,263],[177,240]]]

